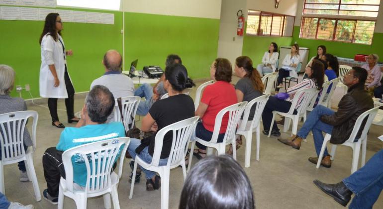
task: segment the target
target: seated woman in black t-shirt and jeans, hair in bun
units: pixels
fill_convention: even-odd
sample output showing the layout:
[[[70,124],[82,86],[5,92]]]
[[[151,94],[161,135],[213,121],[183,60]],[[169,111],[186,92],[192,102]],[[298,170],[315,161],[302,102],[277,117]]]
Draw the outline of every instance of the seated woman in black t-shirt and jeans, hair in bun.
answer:
[[[155,102],[149,113],[142,119],[142,131],[159,131],[165,126],[194,116],[194,103],[190,96],[182,94],[187,86],[192,85],[188,79],[188,71],[181,64],[167,66],[165,69],[164,88],[169,93],[169,98]],[[152,135],[142,140],[131,138],[128,152],[133,160],[139,156],[147,163],[152,162],[155,137]],[[166,165],[172,147],[172,133],[164,137],[159,165]],[[130,162],[133,170],[134,161]],[[142,169],[142,168],[141,168]],[[157,190],[160,187],[160,177],[153,171],[142,169],[146,176],[146,190]],[[137,169],[135,183],[140,182],[141,172]],[[130,179],[132,174],[130,175]]]

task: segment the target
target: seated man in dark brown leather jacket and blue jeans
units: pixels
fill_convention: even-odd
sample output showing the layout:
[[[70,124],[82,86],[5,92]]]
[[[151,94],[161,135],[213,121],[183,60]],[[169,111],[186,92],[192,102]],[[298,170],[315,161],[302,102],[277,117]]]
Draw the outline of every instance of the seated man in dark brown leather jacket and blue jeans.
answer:
[[[323,133],[330,133],[332,144],[342,144],[351,135],[354,124],[363,112],[374,107],[371,96],[365,90],[365,81],[367,79],[367,71],[360,67],[353,67],[347,74],[343,76],[343,84],[349,89],[345,96],[342,97],[338,104],[338,111],[335,112],[330,108],[317,105],[308,115],[306,122],[296,135],[292,135],[289,139],[278,139],[280,142],[299,149],[302,139],[306,138],[308,133],[312,131],[314,135],[314,145],[316,154],[319,156],[320,149],[323,144]],[[362,125],[362,127],[364,124]],[[357,134],[360,137],[363,128]],[[326,168],[331,167],[330,155],[327,149],[324,151],[321,165]],[[317,157],[310,157],[308,160],[314,164],[317,163]]]

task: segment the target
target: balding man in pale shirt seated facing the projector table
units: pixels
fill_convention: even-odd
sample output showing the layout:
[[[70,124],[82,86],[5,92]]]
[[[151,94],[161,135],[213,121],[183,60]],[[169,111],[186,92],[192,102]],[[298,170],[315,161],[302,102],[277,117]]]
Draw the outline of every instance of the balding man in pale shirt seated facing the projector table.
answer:
[[[102,85],[109,89],[114,99],[133,96],[134,84],[132,79],[121,73],[121,54],[116,50],[107,51],[102,60],[102,64],[104,65],[105,73],[92,82],[91,90],[96,85]],[[113,121],[114,114],[112,111],[106,122]]]

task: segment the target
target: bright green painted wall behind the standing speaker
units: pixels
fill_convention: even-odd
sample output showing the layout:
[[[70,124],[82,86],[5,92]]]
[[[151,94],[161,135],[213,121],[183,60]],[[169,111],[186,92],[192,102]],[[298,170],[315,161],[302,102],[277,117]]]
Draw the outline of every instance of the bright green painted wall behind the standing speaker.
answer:
[[[101,60],[108,49],[122,52],[122,12],[108,12],[114,13],[114,25],[64,23],[66,49],[74,53],[68,57],[68,69],[76,92],[89,91],[92,81],[103,74]],[[33,98],[39,97],[38,39],[43,24],[43,21],[0,20],[0,63],[16,71],[15,86],[30,84]],[[139,69],[144,65],[164,67],[166,56],[176,53],[183,59],[191,78],[207,77],[208,65],[217,55],[218,32],[219,19],[125,13],[126,68],[137,58]],[[18,96],[15,90],[11,95]],[[24,91],[22,97],[30,99]]]

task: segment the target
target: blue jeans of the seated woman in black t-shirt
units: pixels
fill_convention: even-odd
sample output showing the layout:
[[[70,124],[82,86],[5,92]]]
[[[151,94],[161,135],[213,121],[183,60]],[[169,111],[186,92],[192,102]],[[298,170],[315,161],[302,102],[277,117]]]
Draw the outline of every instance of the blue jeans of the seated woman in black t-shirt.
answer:
[[[136,153],[136,148],[141,144],[141,140],[135,139],[135,138],[130,138],[130,144],[128,147],[128,152],[130,156],[132,156],[132,159],[135,159],[136,156],[140,157],[141,160],[145,161],[146,163],[151,163],[152,162],[152,156],[148,152],[149,147],[145,147],[140,154]],[[165,159],[160,159],[159,165],[164,166],[168,164],[168,158]],[[141,166],[140,166],[141,167]],[[141,170],[145,173],[146,179],[151,179],[156,175],[156,172],[154,171],[149,171],[141,167]]]

